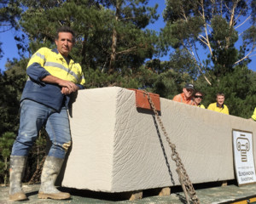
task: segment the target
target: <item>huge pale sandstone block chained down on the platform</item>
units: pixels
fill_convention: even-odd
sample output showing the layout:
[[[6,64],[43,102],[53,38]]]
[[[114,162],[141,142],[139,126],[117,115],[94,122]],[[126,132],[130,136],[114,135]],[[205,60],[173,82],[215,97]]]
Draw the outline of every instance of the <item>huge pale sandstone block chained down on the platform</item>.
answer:
[[[160,105],[160,118],[192,183],[235,178],[232,129],[255,135],[255,122],[169,99],[160,99]],[[179,185],[160,125],[151,111],[137,110],[134,91],[81,90],[71,113],[73,146],[62,186],[123,192]]]

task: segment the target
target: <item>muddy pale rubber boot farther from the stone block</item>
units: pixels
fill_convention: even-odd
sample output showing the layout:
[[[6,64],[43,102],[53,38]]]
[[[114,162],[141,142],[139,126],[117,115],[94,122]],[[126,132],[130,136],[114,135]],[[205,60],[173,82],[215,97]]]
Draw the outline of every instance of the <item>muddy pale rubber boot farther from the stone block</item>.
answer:
[[[21,179],[26,167],[26,156],[10,156],[9,200],[24,201],[26,195],[21,189]]]

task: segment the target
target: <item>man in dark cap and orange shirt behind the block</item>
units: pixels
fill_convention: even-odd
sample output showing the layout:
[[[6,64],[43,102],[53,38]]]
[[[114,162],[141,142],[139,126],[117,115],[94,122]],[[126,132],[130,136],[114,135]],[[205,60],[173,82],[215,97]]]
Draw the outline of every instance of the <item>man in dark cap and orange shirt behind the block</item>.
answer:
[[[172,100],[181,102],[187,105],[195,105],[195,102],[193,101],[194,90],[195,90],[194,85],[192,83],[187,83],[183,88],[183,93],[177,94],[176,96],[173,97]]]

